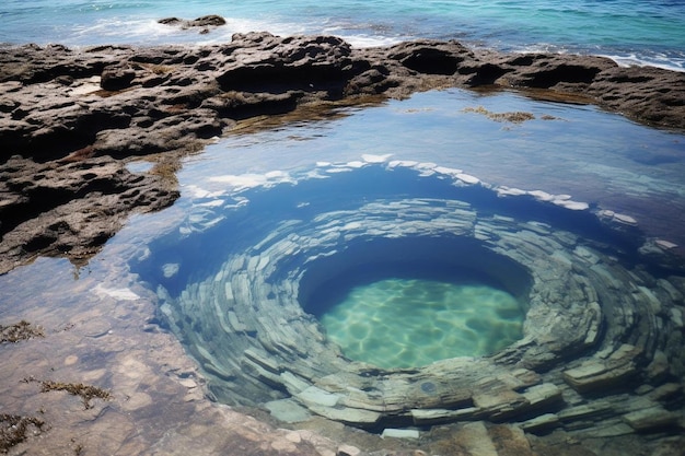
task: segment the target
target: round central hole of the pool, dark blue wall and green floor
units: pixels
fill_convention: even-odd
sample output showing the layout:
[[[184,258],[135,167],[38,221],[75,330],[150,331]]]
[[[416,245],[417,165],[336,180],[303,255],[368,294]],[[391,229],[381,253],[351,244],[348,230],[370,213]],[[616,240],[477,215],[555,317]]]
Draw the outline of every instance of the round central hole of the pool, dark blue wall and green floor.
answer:
[[[348,359],[417,367],[521,339],[530,284],[526,268],[472,239],[371,237],[313,261],[298,299]]]

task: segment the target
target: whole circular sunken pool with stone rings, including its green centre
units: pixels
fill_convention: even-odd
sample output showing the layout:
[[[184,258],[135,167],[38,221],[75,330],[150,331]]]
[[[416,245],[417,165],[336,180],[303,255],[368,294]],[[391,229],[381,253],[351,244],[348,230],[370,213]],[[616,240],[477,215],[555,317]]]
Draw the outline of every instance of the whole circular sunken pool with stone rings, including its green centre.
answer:
[[[221,179],[235,189],[200,198],[132,268],[218,401],[370,430],[536,417],[559,407],[560,383],[605,387],[643,366],[624,360],[671,350],[643,324],[675,296],[650,276],[653,246],[568,196],[374,156]],[[334,318],[349,295],[383,305]],[[405,359],[388,343],[419,339]]]

